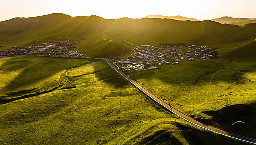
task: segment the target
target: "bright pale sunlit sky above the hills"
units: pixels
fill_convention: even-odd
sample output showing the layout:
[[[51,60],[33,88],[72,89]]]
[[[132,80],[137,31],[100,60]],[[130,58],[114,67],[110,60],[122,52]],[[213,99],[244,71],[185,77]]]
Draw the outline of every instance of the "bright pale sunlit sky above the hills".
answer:
[[[105,19],[151,14],[199,20],[223,16],[256,18],[256,0],[0,0],[0,21],[56,12],[72,17],[95,14]]]

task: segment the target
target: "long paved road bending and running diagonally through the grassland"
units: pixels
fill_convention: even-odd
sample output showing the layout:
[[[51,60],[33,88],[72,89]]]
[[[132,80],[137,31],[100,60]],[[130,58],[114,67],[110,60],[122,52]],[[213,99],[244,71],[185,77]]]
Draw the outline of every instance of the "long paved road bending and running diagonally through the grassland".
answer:
[[[30,56],[30,55],[26,55],[26,56]],[[35,56],[35,55],[33,55]],[[50,57],[54,57],[54,56],[50,56]],[[1,57],[0,57],[1,58]],[[86,57],[86,58],[90,58],[90,57]],[[82,58],[85,59],[85,58]],[[173,107],[169,106],[168,104],[166,104],[163,100],[159,99],[158,97],[156,97],[154,94],[152,94],[151,92],[149,92],[148,90],[146,90],[145,88],[143,88],[141,85],[139,85],[137,82],[135,82],[133,79],[131,79],[130,77],[128,77],[127,75],[125,75],[125,73],[123,73],[122,71],[120,71],[117,67],[115,67],[115,65],[113,65],[112,63],[109,62],[108,59],[105,58],[90,58],[90,59],[100,59],[100,60],[104,60],[106,63],[108,63],[108,65],[110,65],[115,71],[117,71],[120,75],[122,75],[123,77],[125,77],[126,80],[128,80],[129,82],[131,82],[134,86],[136,86],[138,89],[140,89],[142,92],[144,92],[146,95],[148,95],[148,97],[151,97],[154,101],[156,101],[158,104],[161,104],[163,107],[165,107],[166,109],[168,109],[169,111],[171,111],[173,114],[176,114],[178,116],[180,116],[181,118],[185,119],[186,121],[204,128],[208,131],[212,131],[214,133],[218,133],[221,135],[225,135],[229,138],[233,138],[236,140],[241,140],[247,143],[252,143],[256,145],[256,139],[253,138],[248,138],[242,135],[237,135],[234,133],[229,133],[227,131],[223,131],[221,129],[212,127],[212,126],[208,126],[206,124],[203,124],[199,121],[196,121],[194,118],[191,118],[189,116],[186,116],[185,114],[181,113],[180,111],[174,109]]]

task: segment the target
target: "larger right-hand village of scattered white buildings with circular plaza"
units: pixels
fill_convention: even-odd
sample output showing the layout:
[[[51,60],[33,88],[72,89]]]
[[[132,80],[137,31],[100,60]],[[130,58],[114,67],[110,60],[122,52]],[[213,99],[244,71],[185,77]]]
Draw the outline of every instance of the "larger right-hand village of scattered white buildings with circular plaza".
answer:
[[[218,48],[178,43],[160,43],[159,46],[140,45],[131,56],[112,60],[120,70],[147,70],[159,65],[177,65],[181,60],[195,61],[218,57]]]

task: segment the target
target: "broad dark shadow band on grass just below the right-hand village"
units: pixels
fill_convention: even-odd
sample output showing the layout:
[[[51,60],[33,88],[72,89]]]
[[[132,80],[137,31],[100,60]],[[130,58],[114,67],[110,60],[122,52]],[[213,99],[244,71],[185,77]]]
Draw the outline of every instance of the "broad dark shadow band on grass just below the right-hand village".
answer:
[[[162,65],[155,70],[128,72],[134,79],[158,79],[166,84],[186,86],[213,81],[241,84],[246,72],[256,72],[253,62],[231,61],[225,59],[181,61],[178,65]],[[181,78],[181,80],[179,79]]]

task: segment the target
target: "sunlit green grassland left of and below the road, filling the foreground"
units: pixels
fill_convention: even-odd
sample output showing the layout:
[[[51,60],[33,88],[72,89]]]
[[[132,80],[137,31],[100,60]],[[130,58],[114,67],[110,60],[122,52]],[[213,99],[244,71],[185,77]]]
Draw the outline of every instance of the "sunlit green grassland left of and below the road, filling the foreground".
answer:
[[[104,61],[22,56],[0,63],[0,102],[15,99],[0,104],[0,144],[241,144],[168,113]],[[27,94],[35,95],[20,99]]]

